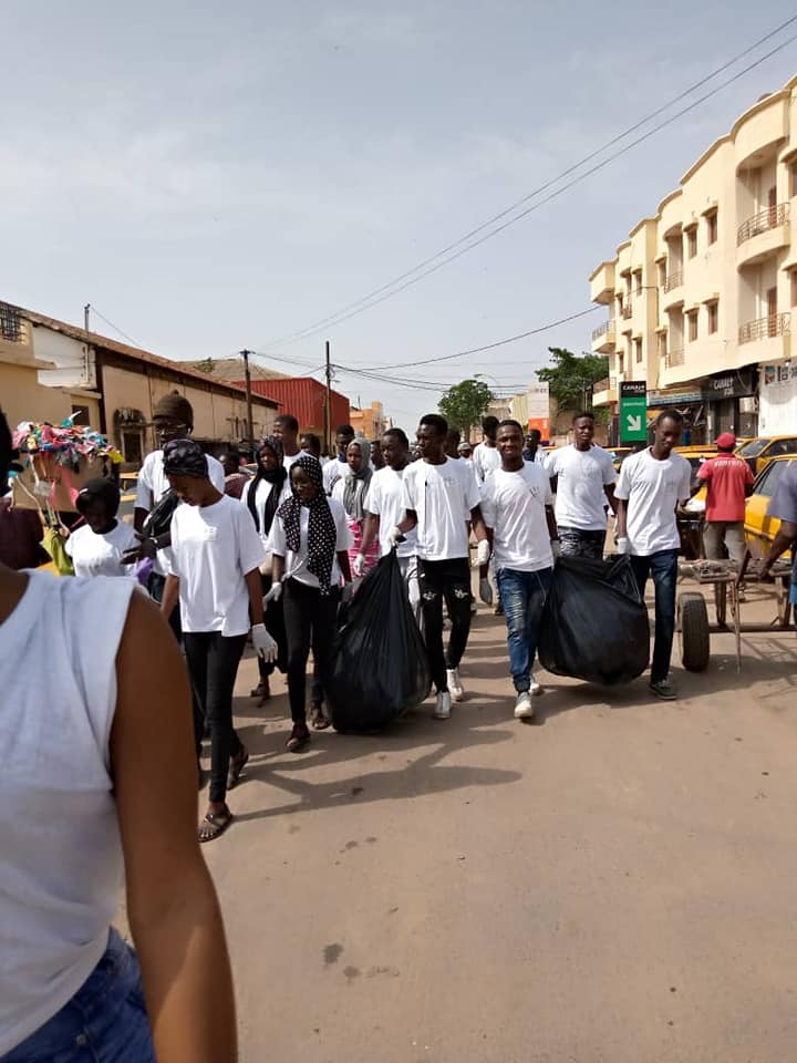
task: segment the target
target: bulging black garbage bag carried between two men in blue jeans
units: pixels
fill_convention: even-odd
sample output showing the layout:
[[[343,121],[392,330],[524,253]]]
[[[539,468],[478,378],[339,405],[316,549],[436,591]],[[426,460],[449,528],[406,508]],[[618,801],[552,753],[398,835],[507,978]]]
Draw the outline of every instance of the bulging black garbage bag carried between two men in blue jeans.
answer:
[[[542,613],[539,659],[557,675],[629,683],[648,667],[648,609],[631,558],[560,557]]]

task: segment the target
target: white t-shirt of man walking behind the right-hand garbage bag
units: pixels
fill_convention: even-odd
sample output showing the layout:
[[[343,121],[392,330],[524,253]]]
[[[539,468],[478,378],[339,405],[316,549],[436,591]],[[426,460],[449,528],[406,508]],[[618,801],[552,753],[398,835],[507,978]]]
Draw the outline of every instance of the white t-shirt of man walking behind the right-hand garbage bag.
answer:
[[[571,443],[549,454],[545,467],[549,476],[559,477],[557,524],[584,532],[604,532],[607,496],[603,488],[617,478],[611,454],[602,446],[579,451]]]

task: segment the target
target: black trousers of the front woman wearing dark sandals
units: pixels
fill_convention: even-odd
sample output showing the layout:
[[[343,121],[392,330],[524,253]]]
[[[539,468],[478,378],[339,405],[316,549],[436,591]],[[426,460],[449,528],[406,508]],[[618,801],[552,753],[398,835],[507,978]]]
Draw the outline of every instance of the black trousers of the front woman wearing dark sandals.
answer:
[[[197,757],[205,721],[210,729],[210,801],[227,796],[229,758],[241,750],[232,729],[232,689],[246,644],[245,634],[225,638],[220,631],[185,631],[183,642],[194,688],[194,740]]]

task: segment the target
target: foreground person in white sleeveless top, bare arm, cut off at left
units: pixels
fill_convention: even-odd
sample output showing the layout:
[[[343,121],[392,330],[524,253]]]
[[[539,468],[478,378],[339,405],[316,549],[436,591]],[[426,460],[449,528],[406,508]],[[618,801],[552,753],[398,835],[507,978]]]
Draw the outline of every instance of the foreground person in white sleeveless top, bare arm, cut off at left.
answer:
[[[10,457],[0,413],[0,496]],[[232,1063],[168,628],[132,580],[0,564],[0,1059]],[[122,884],[138,952],[112,927]]]

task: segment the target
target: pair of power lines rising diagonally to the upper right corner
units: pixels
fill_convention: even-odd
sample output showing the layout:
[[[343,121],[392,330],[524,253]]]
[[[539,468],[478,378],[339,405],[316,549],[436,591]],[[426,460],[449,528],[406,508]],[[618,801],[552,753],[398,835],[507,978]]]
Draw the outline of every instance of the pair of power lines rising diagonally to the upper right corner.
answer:
[[[746,49],[744,49],[733,59],[723,63],[721,66],[716,68],[716,70],[712,71],[710,74],[706,74],[700,81],[695,82],[689,89],[683,90],[683,92],[679,93],[676,96],[673,96],[671,100],[669,100],[665,104],[662,104],[655,111],[652,111],[650,114],[645,115],[643,118],[640,118],[638,122],[629,126],[629,128],[624,130],[622,133],[612,137],[610,141],[607,141],[605,144],[596,148],[579,162],[567,167],[556,177],[552,177],[550,180],[540,185],[534,192],[529,193],[527,196],[524,196],[521,199],[517,200],[511,206],[494,215],[487,221],[484,221],[482,225],[477,226],[475,229],[472,229],[469,233],[460,237],[458,240],[455,240],[453,244],[449,244],[447,247],[437,251],[435,255],[432,255],[428,258],[424,259],[423,261],[418,262],[412,269],[407,270],[404,274],[401,274],[398,277],[393,278],[393,280],[389,281],[386,285],[383,285],[381,288],[374,289],[373,291],[369,292],[366,296],[363,296],[361,299],[358,299],[354,302],[348,303],[345,307],[341,308],[341,310],[337,311],[335,313],[329,314],[328,317],[322,318],[319,321],[315,321],[313,324],[308,326],[306,329],[300,329],[297,332],[289,333],[284,337],[273,340],[272,344],[267,344],[267,345],[279,347],[282,344],[292,343],[298,340],[304,339],[309,336],[312,336],[314,332],[321,330],[324,327],[332,326],[332,324],[341,324],[343,321],[349,320],[349,318],[354,317],[358,313],[362,313],[365,310],[370,310],[372,307],[377,306],[380,302],[383,302],[385,299],[390,299],[393,296],[398,295],[400,292],[404,291],[406,288],[410,288],[412,285],[417,283],[418,281],[423,280],[425,277],[428,277],[431,274],[434,274],[438,269],[442,269],[443,266],[446,266],[448,262],[454,261],[456,258],[459,258],[462,255],[465,255],[467,251],[472,250],[473,248],[478,247],[480,244],[485,242],[486,240],[491,239],[494,236],[497,236],[499,233],[504,231],[504,229],[508,228],[510,225],[515,225],[515,223],[527,217],[534,210],[538,209],[544,204],[549,203],[556,196],[561,195],[563,192],[567,192],[569,188],[573,187],[573,185],[591,176],[592,174],[598,173],[604,166],[609,165],[609,163],[615,161],[621,155],[631,151],[633,147],[636,147],[639,144],[643,143],[643,141],[653,136],[655,133],[661,132],[661,130],[665,128],[667,125],[671,125],[677,118],[683,117],[690,111],[693,111],[695,107],[700,106],[702,103],[705,103],[706,100],[710,100],[712,96],[716,95],[718,92],[722,92],[723,89],[726,89],[728,85],[733,84],[735,81],[738,81],[741,78],[749,73],[756,66],[759,66],[762,65],[762,63],[766,62],[768,59],[772,59],[773,55],[783,51],[790,43],[797,40],[797,35],[788,38],[786,41],[778,44],[776,48],[767,52],[765,55],[755,60],[755,62],[748,64],[743,70],[737,71],[736,74],[734,74],[732,78],[727,79],[726,81],[722,82],[718,86],[712,89],[710,92],[705,93],[703,96],[701,96],[693,103],[689,104],[686,107],[683,107],[681,111],[676,112],[674,115],[671,115],[665,121],[659,123],[652,130],[649,130],[648,133],[643,134],[642,136],[632,141],[630,144],[625,145],[621,151],[615,152],[614,154],[610,155],[607,159],[604,159],[600,164],[591,167],[590,169],[586,171],[583,174],[576,177],[573,180],[567,183],[561,188],[555,190],[551,195],[546,196],[539,203],[521,211],[519,215],[510,218],[508,221],[504,223],[497,228],[491,229],[489,233],[480,237],[478,240],[472,240],[472,237],[482,233],[484,229],[488,228],[490,225],[494,225],[496,221],[500,220],[501,218],[505,218],[507,215],[516,210],[519,206],[522,206],[522,204],[528,203],[529,199],[536,198],[542,192],[546,192],[552,185],[560,182],[563,177],[567,177],[570,174],[572,174],[575,171],[580,169],[582,166],[587,165],[587,163],[594,159],[598,155],[602,154],[604,151],[612,147],[614,144],[625,140],[632,133],[636,132],[636,130],[641,128],[643,125],[646,125],[649,122],[652,122],[655,117],[658,117],[664,111],[669,110],[671,106],[679,103],[681,100],[685,99],[686,96],[691,95],[697,89],[702,87],[707,82],[716,78],[718,74],[726,71],[729,66],[733,66],[745,55],[748,55],[751,52],[755,51],[755,49],[759,48],[766,41],[777,35],[779,32],[786,29],[786,27],[790,25],[795,21],[797,21],[797,14],[793,16],[790,19],[787,19],[785,22],[780,23],[780,25],[776,27],[774,30],[770,30],[768,33],[759,38],[753,44],[748,45]],[[467,242],[468,240],[470,240],[470,242]],[[463,244],[466,244],[466,246],[460,247],[460,245]],[[459,248],[459,250],[457,250],[456,254],[453,254],[453,255],[448,254],[449,251],[453,251],[456,248]],[[448,256],[448,257],[444,258],[444,256]],[[436,259],[438,258],[442,258],[443,260],[441,262],[437,262],[437,265],[433,266],[432,268],[425,269],[426,266],[431,266],[431,264],[435,262]],[[420,272],[421,270],[423,270],[423,272]],[[415,274],[420,274],[420,275],[417,277],[414,277],[413,275]],[[405,282],[401,283],[402,281],[405,281]],[[397,288],[395,287],[396,285],[398,285]],[[395,289],[395,290],[392,290],[392,289]],[[379,297],[379,298],[375,298],[375,297]]]

